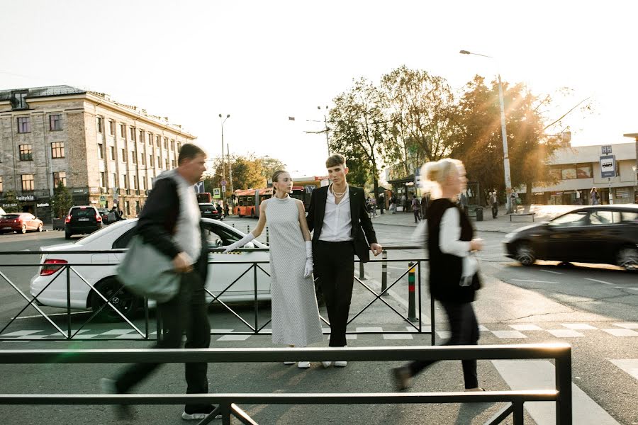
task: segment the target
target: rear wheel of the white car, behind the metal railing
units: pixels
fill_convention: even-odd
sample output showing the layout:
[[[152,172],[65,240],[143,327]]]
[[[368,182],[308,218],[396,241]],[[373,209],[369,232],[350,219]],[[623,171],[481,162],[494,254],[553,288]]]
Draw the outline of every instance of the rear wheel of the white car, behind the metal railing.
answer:
[[[90,305],[93,312],[99,311],[98,317],[105,322],[122,322],[123,320],[113,307],[106,305],[102,297],[95,292],[96,290],[107,300],[111,300],[111,305],[129,320],[133,318],[135,310],[140,305],[139,297],[123,288],[122,283],[115,276],[101,280],[91,292]]]

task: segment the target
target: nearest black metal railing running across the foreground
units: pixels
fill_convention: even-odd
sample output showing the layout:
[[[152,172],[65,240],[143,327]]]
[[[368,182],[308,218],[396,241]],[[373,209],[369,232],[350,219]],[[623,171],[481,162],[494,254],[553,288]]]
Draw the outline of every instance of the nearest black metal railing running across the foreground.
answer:
[[[569,344],[520,344],[508,346],[416,346],[359,348],[198,348],[125,350],[1,350],[0,364],[51,363],[244,363],[282,361],[410,361],[410,360],[493,360],[554,359],[555,387],[538,390],[498,390],[485,392],[334,392],[276,394],[0,394],[0,404],[11,405],[93,405],[93,404],[218,404],[203,419],[207,424],[222,414],[222,424],[235,416],[242,424],[257,424],[238,404],[430,404],[488,403],[509,404],[492,416],[486,425],[503,423],[513,416],[514,425],[524,421],[525,402],[554,402],[556,425],[572,424],[571,346]],[[145,419],[149,419],[145,417]],[[300,423],[303,421],[300,421]]]

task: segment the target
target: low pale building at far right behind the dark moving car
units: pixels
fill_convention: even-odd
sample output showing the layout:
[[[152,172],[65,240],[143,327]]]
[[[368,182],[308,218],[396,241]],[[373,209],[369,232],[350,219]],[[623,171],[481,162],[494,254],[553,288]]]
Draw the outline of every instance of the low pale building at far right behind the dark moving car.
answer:
[[[637,198],[636,154],[637,143],[615,145],[566,146],[556,149],[549,159],[549,172],[558,183],[552,186],[534,187],[532,203],[538,204],[582,204],[589,203],[593,187],[603,203],[634,203]],[[602,176],[600,157],[614,155],[616,175]],[[525,197],[525,188],[517,188]]]

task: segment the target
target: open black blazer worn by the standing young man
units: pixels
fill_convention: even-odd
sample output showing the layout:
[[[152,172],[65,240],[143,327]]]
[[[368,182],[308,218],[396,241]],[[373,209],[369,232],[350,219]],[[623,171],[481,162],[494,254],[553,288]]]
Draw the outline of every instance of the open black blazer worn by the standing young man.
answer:
[[[319,240],[321,229],[323,228],[323,217],[325,216],[325,201],[328,198],[328,187],[315,189],[310,196],[308,206],[308,229],[313,231],[313,246]],[[359,260],[366,263],[370,260],[370,244],[376,244],[376,233],[372,227],[372,222],[366,211],[366,200],[364,190],[349,186],[348,195],[350,197],[350,217],[352,219],[352,240],[354,242],[354,252]]]

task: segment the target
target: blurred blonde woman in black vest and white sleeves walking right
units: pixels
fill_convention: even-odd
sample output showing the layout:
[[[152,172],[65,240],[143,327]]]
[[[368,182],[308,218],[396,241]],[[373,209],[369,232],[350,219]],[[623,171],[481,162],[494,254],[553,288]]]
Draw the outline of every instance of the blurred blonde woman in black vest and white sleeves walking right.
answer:
[[[474,239],[469,218],[454,203],[465,189],[465,169],[456,159],[441,159],[425,164],[421,175],[433,191],[427,210],[429,282],[430,296],[443,306],[452,333],[444,345],[476,345],[478,322],[472,302],[481,283],[473,253],[483,248],[483,242]],[[413,361],[394,368],[396,389],[410,387],[412,378],[432,363],[435,361]],[[478,387],[476,360],[464,360],[462,365],[466,391],[483,391]]]

